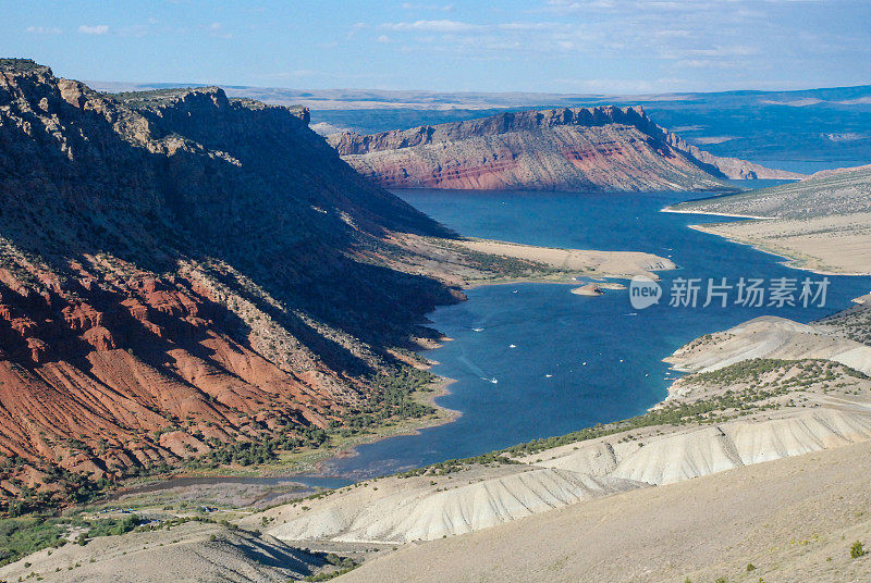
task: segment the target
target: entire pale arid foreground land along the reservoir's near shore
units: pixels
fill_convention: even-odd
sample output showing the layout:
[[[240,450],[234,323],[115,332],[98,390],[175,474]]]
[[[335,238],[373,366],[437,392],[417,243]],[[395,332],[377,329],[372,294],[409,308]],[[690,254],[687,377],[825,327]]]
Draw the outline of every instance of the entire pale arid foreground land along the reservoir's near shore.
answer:
[[[670,357],[689,374],[637,418],[260,512],[144,499],[157,526],[0,576],[114,581],[157,551],[200,566],[185,581],[245,580],[229,569],[240,558],[254,581],[863,581],[871,562],[850,547],[871,537],[871,348],[857,336],[870,309],[702,336]],[[179,516],[200,522],[164,534]]]

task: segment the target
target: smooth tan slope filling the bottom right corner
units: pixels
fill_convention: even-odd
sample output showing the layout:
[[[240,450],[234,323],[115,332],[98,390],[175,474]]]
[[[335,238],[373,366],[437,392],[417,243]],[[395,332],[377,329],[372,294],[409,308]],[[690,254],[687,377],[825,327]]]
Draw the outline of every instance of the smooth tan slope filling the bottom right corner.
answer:
[[[870,471],[852,444],[408,545],[339,581],[859,583]]]

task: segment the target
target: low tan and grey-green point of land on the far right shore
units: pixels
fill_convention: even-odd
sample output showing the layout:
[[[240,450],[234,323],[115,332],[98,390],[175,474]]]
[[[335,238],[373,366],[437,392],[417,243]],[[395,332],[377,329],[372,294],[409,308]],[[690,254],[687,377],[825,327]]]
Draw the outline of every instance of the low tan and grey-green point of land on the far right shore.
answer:
[[[871,273],[871,166],[826,171],[793,184],[667,209],[749,216],[696,228],[818,271]]]

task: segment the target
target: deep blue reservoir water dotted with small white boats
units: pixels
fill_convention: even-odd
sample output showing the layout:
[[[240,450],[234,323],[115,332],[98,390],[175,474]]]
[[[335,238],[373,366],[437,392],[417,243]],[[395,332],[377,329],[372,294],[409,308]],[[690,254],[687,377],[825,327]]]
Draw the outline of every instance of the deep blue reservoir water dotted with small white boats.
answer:
[[[468,301],[437,309],[429,317],[432,326],[453,340],[425,356],[439,362],[434,373],[456,380],[451,394],[438,402],[462,417],[417,435],[361,446],[356,456],[326,466],[324,473],[347,480],[474,456],[641,413],[666,395],[670,379],[676,376],[662,359],[692,338],[762,314],[809,322],[871,290],[869,277],[829,276],[823,308],[746,308],[732,301],[726,308],[668,307],[676,277],[706,283],[725,277],[731,284],[739,277],[822,277],[687,226],[728,219],[660,212],[698,194],[397,194],[464,235],[648,251],[671,256],[679,269],[660,273],[666,297],[643,310],[631,308],[626,290],[586,297],[557,284],[478,287],[468,290]]]

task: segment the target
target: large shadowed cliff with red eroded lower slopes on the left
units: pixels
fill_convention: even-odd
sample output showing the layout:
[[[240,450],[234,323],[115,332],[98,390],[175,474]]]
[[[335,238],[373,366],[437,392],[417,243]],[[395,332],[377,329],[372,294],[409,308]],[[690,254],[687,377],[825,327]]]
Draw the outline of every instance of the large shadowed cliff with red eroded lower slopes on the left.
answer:
[[[217,88],[112,97],[0,60],[0,199],[7,497],[390,417],[391,347],[458,296],[387,266],[449,232],[306,111]]]

